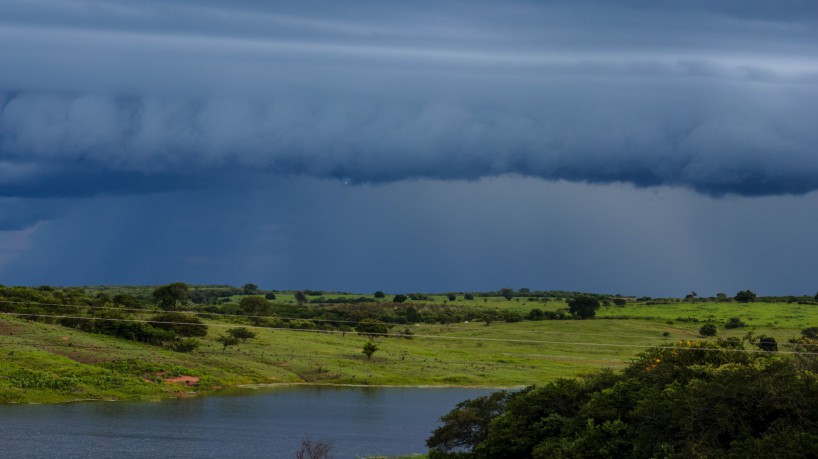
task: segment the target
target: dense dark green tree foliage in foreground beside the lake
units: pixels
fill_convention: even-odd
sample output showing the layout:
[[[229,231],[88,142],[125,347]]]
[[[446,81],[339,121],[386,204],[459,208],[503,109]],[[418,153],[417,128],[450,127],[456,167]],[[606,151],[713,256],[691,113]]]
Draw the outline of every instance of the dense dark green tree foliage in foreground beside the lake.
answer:
[[[818,456],[818,358],[741,346],[655,348],[618,374],[462,402],[429,457]]]

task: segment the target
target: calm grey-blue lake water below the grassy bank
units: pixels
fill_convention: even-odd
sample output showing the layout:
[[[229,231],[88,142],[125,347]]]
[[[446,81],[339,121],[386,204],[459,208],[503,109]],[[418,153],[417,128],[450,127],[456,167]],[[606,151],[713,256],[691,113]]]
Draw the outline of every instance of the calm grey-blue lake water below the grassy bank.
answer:
[[[0,406],[2,457],[335,458],[426,451],[438,418],[490,389],[278,386],[162,402]]]

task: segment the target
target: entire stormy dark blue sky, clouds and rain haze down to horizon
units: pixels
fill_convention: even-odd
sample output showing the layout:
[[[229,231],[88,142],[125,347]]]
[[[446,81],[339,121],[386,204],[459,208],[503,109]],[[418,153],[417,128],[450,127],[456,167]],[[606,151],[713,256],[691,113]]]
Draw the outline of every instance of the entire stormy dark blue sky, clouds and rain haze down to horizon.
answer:
[[[0,2],[0,283],[818,290],[818,3]]]

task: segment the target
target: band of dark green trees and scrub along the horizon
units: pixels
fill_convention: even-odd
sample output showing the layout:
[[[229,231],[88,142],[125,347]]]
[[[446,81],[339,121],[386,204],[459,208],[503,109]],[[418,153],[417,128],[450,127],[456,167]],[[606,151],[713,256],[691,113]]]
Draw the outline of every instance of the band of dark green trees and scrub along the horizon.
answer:
[[[279,298],[285,293],[290,295],[287,302]],[[520,305],[497,308],[476,301],[480,298],[496,300],[498,297],[514,300],[515,303],[525,298],[533,307],[520,312]],[[294,303],[292,298],[295,298]],[[207,318],[208,315],[255,326],[347,332],[358,331],[356,327],[365,320],[378,321],[390,330],[395,325],[415,323],[445,325],[481,322],[488,326],[494,322],[586,319],[593,317],[600,305],[624,306],[637,302],[816,302],[816,298],[808,296],[757,298],[750,290],[738,292],[734,297],[719,294],[715,299],[699,298],[695,292],[683,299],[652,299],[566,291],[532,292],[528,289],[447,293],[443,294],[443,298],[439,294],[420,293],[386,295],[375,292],[372,296],[354,296],[318,290],[282,292],[262,290],[254,284],[242,287],[189,286],[181,282],[132,288],[0,286],[0,312],[16,313],[28,320],[57,323],[87,332],[189,350],[195,348],[195,342],[191,339],[206,333],[201,331],[206,328],[197,316]],[[553,305],[551,308],[538,306],[547,302],[564,302],[567,307],[555,310]],[[188,330],[181,325],[172,325],[174,323],[192,324],[200,328]],[[407,328],[395,334],[405,337],[410,333]]]

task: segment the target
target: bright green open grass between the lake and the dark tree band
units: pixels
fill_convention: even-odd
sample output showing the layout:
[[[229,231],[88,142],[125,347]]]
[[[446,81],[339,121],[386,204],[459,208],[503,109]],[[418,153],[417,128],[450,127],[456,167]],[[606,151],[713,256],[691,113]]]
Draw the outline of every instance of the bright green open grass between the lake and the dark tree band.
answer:
[[[282,296],[281,301],[290,300]],[[456,303],[521,313],[565,307],[504,298]],[[740,317],[748,327],[724,330],[721,325],[730,317]],[[152,400],[238,384],[524,386],[617,369],[648,347],[702,339],[698,329],[708,320],[719,327],[718,337],[766,334],[787,351],[789,338],[818,325],[818,306],[627,304],[603,307],[597,318],[584,321],[418,324],[409,326],[412,339],[377,338],[379,350],[371,359],[361,352],[367,339],[355,332],[251,327],[256,338],[223,351],[215,338],[240,319],[207,319],[208,336],[196,352],[185,354],[0,316],[0,402]],[[196,387],[162,382],[177,375],[202,379]]]

